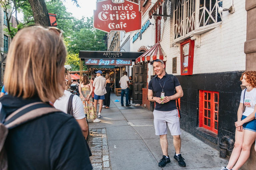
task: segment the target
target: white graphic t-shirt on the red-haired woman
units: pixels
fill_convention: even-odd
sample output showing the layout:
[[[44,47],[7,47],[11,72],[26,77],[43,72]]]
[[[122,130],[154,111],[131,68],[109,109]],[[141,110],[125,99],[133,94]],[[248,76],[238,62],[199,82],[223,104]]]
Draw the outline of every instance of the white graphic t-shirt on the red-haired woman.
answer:
[[[253,88],[251,91],[247,91],[247,89],[244,89],[241,93],[241,99],[240,99],[240,103],[244,103],[245,107],[245,111],[243,113],[244,116],[249,116],[253,111],[254,111],[254,107],[256,104],[256,88]],[[245,97],[244,97],[244,91],[245,92]],[[244,101],[243,101],[244,100]]]

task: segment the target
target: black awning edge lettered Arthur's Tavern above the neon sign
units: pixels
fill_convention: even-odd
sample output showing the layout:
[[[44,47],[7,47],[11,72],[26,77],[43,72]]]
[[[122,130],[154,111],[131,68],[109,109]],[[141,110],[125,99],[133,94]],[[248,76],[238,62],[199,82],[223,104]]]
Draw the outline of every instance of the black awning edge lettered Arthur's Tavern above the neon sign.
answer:
[[[144,52],[124,52],[124,51],[79,51],[79,58],[84,59],[132,59],[141,56]]]

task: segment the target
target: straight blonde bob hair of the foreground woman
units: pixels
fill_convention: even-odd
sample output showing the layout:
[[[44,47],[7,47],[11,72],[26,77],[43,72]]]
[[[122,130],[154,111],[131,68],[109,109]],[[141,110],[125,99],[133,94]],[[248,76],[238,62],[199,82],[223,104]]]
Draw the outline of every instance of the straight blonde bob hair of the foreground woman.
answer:
[[[33,26],[13,38],[4,74],[5,90],[15,97],[43,102],[63,96],[66,48],[56,29]]]

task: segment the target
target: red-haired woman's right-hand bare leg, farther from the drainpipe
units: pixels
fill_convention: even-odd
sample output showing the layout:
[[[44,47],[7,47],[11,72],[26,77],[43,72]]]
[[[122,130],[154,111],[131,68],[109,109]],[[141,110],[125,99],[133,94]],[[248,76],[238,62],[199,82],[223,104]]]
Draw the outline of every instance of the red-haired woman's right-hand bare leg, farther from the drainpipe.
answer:
[[[242,145],[242,151],[236,162],[236,165],[232,168],[233,170],[238,170],[247,161],[247,159],[250,156],[251,147],[253,142],[255,141],[255,137],[256,132],[251,130],[244,130],[244,141]]]

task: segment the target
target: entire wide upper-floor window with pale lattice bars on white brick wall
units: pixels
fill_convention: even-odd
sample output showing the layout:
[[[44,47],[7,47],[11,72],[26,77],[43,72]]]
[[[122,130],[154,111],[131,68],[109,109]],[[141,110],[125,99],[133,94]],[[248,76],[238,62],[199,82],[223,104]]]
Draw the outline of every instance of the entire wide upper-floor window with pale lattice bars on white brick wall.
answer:
[[[174,0],[173,6],[174,39],[189,37],[193,31],[222,21],[218,13],[222,0]]]

